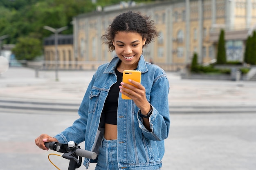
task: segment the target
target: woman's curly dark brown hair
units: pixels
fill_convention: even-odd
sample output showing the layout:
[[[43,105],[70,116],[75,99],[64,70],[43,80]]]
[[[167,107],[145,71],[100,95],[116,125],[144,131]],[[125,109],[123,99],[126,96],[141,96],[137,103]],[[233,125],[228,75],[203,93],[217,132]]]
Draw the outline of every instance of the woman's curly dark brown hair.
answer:
[[[142,16],[139,12],[128,11],[118,15],[106,30],[106,34],[101,36],[105,40],[104,43],[108,44],[109,51],[115,50],[112,41],[118,31],[139,33],[142,38],[146,38],[144,46],[152,42],[155,36],[157,36],[154,21],[150,20],[149,16]]]

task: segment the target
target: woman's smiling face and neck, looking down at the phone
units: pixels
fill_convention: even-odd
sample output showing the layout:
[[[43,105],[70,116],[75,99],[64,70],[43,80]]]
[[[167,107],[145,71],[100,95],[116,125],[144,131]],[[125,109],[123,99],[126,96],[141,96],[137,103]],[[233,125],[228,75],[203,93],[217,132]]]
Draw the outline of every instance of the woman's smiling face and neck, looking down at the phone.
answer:
[[[115,35],[113,45],[121,64],[117,66],[119,72],[137,68],[139,58],[142,54],[142,47],[146,39],[139,33],[119,31]]]

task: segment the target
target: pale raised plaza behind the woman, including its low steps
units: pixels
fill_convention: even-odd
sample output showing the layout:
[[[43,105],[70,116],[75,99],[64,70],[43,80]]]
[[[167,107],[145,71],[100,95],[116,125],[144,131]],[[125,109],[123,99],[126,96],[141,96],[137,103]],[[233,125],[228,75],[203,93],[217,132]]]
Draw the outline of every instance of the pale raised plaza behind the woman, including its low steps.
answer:
[[[33,106],[63,111],[67,107],[71,109],[67,111],[76,111],[94,72],[58,71],[56,82],[55,71],[39,71],[36,78],[33,69],[11,67],[0,76],[0,108],[8,108],[9,103],[19,109]],[[181,79],[178,73],[166,74],[170,113],[256,113],[256,82],[191,80]]]

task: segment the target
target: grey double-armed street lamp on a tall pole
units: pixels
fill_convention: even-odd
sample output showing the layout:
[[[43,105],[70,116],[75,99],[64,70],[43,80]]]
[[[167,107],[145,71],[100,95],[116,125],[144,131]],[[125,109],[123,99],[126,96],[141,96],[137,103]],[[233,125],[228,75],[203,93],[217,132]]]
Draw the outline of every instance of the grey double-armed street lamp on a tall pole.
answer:
[[[63,26],[59,29],[54,29],[50,26],[44,26],[44,29],[47,29],[49,31],[52,31],[54,33],[54,44],[55,44],[55,81],[58,81],[58,33],[60,33],[61,31],[64,31],[67,29],[67,26]]]

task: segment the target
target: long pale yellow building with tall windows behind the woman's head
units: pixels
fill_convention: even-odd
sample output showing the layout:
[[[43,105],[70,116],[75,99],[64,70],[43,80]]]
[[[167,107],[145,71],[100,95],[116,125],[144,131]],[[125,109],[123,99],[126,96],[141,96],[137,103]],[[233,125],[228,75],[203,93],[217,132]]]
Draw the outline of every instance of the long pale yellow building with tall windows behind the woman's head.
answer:
[[[194,52],[200,64],[213,61],[220,29],[225,30],[227,60],[242,61],[245,40],[256,24],[256,0],[166,0],[106,11],[103,8],[73,18],[71,60],[80,63],[79,68],[90,68],[86,64],[95,68],[112,59],[115,51],[108,51],[101,35],[117,15],[128,10],[154,20],[159,37],[144,48],[143,54],[166,71],[190,64]]]

